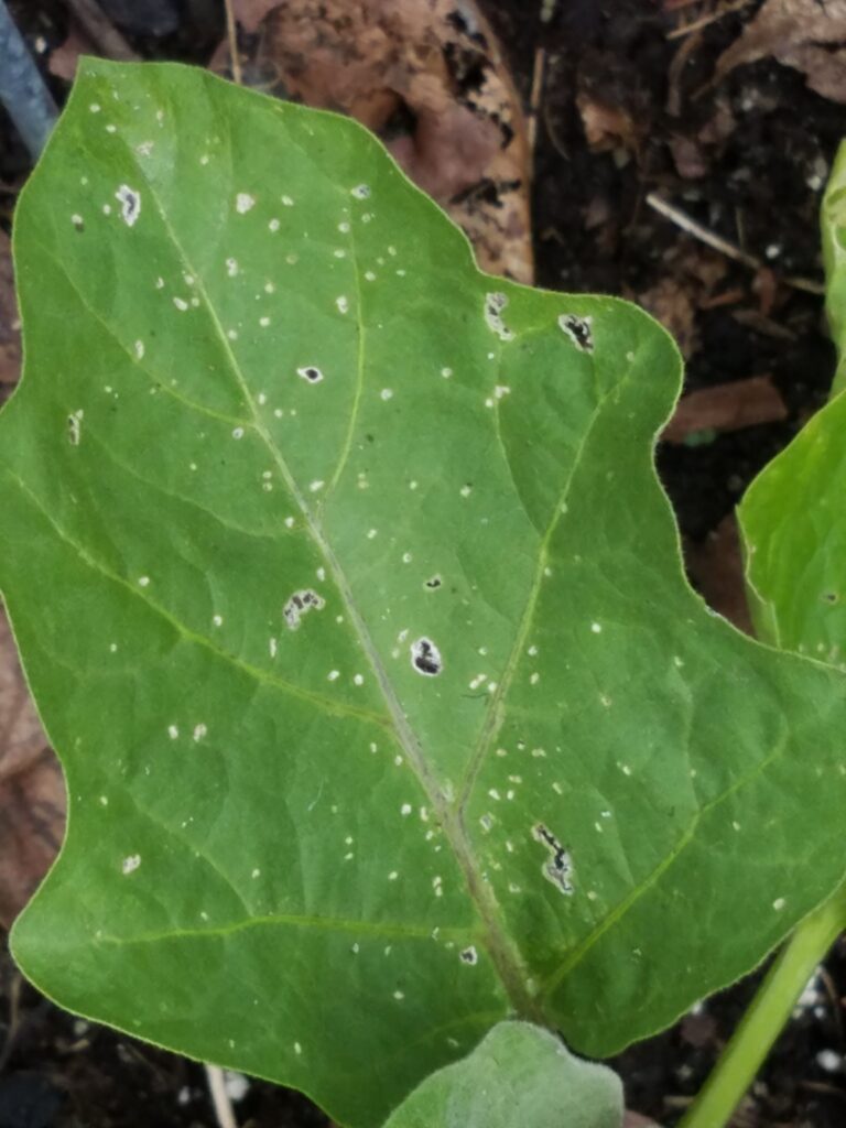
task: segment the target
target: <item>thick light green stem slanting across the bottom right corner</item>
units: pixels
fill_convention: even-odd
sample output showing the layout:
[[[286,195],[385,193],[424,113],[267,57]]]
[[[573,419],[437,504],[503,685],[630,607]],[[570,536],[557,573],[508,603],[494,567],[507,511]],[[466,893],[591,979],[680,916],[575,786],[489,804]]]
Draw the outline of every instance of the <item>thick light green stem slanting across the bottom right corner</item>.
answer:
[[[723,1128],[787,1023],[826,952],[846,928],[846,882],[796,927],[678,1128]]]

